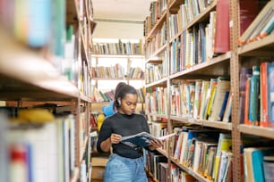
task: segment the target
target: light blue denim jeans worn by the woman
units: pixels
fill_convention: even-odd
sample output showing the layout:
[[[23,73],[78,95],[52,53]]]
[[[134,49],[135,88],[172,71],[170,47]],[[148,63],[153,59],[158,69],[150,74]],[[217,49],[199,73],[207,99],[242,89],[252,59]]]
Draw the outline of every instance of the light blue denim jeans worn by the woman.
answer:
[[[129,159],[115,153],[109,156],[104,182],[147,182],[143,158]]]

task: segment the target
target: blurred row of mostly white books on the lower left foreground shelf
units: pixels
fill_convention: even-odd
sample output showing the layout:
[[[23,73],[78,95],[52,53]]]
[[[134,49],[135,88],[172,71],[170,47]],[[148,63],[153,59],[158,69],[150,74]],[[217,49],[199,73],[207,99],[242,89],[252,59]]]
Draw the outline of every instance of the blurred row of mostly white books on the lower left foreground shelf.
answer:
[[[1,114],[6,121],[0,160],[6,174],[1,181],[70,181],[76,162],[74,116],[55,117],[44,109],[20,109],[16,118],[6,117],[11,114]]]

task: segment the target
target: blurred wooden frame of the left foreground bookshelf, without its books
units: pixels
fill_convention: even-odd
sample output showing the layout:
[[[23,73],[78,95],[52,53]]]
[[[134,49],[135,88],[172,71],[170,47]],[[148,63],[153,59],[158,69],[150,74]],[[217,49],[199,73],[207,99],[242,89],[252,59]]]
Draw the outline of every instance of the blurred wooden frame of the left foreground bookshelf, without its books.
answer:
[[[89,4],[88,1],[85,1],[85,4]],[[52,4],[50,3],[50,5]],[[81,64],[88,67],[90,49],[88,48],[89,46],[83,44],[88,40],[84,39],[86,37],[83,37],[81,34],[77,36],[76,33],[78,29],[82,29],[79,4],[77,1],[67,1],[64,3],[64,6],[63,8],[66,12],[64,24],[73,25],[73,35],[75,35],[75,42],[78,45],[75,46],[75,50],[77,50],[79,55],[82,52],[81,50],[83,50],[84,54],[81,54]],[[87,21],[87,23],[92,24],[94,22]],[[88,28],[87,30],[89,31],[90,29]],[[0,26],[0,37],[2,39],[0,43],[0,100],[5,101],[9,107],[24,108],[45,103],[53,103],[58,106],[71,106],[72,117],[75,121],[73,128],[75,131],[73,136],[75,141],[73,151],[67,153],[74,153],[74,170],[71,171],[72,173],[68,177],[68,180],[79,181],[81,178],[81,161],[84,160],[83,153],[86,152],[90,132],[90,93],[88,88],[80,87],[81,84],[78,85],[78,81],[80,83],[83,79],[78,79],[78,81],[74,79],[70,80],[59,70],[60,68],[55,64],[55,54],[50,49],[50,46],[52,46],[50,44],[52,43],[47,43],[48,45],[43,47],[31,48],[27,43],[18,41],[4,25]],[[57,37],[51,37],[51,39],[55,38]],[[80,76],[83,76],[86,80],[90,80],[90,73],[88,71],[84,73],[83,70],[79,70],[77,77],[81,78]],[[83,111],[81,111],[81,107],[84,108]],[[82,120],[85,120],[86,126],[80,126],[81,117],[83,117]],[[10,133],[11,131],[7,132]],[[84,148],[80,147],[80,132],[84,132],[86,135],[86,139],[83,141]],[[58,137],[55,140],[60,141],[62,138]],[[65,162],[69,163],[69,161]],[[90,165],[89,162],[87,161],[87,165]],[[9,163],[5,163],[4,165],[9,165]],[[59,174],[59,176],[61,177],[63,174]]]

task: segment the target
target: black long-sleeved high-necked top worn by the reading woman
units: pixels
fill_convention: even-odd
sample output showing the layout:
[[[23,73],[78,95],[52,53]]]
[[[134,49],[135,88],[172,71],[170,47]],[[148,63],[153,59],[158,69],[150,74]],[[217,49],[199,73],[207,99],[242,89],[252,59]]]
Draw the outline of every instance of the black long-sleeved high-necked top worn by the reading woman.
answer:
[[[104,120],[98,135],[97,150],[100,153],[103,152],[100,145],[112,133],[119,134],[121,136],[131,136],[142,131],[150,133],[147,120],[143,115],[136,113],[127,115],[116,112]],[[131,146],[124,145],[121,142],[119,144],[112,145],[112,148],[113,153],[126,158],[135,159],[141,157],[142,155],[141,148],[133,148]]]

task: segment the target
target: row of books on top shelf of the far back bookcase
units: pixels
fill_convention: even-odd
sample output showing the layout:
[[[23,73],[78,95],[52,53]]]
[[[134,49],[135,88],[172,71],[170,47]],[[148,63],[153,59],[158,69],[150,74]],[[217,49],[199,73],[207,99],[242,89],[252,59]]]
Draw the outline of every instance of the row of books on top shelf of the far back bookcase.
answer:
[[[122,42],[120,39],[117,43],[93,43],[91,48],[92,54],[124,54],[124,55],[141,55],[142,42],[131,43]]]

